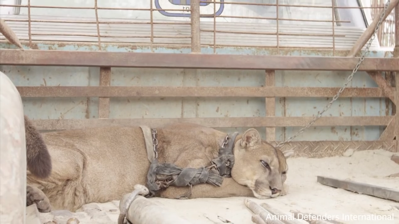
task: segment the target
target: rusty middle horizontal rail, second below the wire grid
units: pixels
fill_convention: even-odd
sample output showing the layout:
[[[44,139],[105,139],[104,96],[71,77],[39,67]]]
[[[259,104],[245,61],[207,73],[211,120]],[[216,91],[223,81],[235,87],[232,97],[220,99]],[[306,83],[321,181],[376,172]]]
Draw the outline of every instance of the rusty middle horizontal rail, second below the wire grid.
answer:
[[[200,86],[17,86],[21,97],[332,97],[340,88]],[[395,88],[390,88],[394,96]],[[345,88],[340,97],[385,97],[381,88]]]

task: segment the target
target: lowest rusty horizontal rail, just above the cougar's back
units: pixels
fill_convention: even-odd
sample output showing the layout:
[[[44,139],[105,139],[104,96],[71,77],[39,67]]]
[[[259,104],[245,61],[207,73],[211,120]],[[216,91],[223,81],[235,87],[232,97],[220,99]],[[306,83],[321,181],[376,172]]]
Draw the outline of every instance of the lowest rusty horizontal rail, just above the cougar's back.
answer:
[[[386,126],[393,116],[321,117],[314,126]],[[236,118],[128,118],[33,120],[39,130],[63,130],[100,126],[162,127],[176,122],[190,122],[212,128],[231,127],[300,127],[314,117],[236,117]]]

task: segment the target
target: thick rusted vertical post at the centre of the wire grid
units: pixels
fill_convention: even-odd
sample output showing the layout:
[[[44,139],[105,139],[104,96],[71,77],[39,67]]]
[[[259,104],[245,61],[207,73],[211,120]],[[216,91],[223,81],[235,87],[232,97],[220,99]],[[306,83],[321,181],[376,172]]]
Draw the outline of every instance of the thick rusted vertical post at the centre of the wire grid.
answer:
[[[201,31],[199,26],[199,0],[191,1],[191,52],[201,53]]]

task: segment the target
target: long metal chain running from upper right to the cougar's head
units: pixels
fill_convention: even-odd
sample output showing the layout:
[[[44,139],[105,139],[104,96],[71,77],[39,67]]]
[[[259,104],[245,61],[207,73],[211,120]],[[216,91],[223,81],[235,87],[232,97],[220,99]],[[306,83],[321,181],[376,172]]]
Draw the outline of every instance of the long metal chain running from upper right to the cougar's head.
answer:
[[[319,118],[321,118],[321,116],[322,116],[322,114],[323,114],[324,112],[326,112],[328,109],[330,109],[332,103],[333,103],[335,100],[337,100],[338,96],[340,96],[340,94],[342,93],[342,91],[344,91],[344,89],[346,88],[346,86],[348,85],[348,83],[349,83],[350,81],[352,81],[352,78],[353,78],[354,74],[358,71],[358,69],[359,69],[359,67],[360,67],[360,64],[363,62],[363,60],[364,60],[364,58],[365,58],[365,55],[366,55],[367,51],[369,51],[369,48],[370,48],[370,46],[371,46],[371,43],[373,42],[373,40],[374,40],[374,38],[375,38],[375,33],[377,33],[377,30],[378,30],[379,26],[381,25],[381,23],[382,23],[382,21],[383,21],[383,18],[385,17],[385,13],[387,12],[387,8],[388,8],[388,5],[389,5],[390,2],[391,2],[391,0],[388,0],[387,3],[385,4],[385,6],[384,6],[384,11],[383,11],[383,13],[381,14],[381,16],[380,16],[380,18],[379,18],[379,20],[378,20],[377,26],[376,26],[375,29],[374,29],[374,33],[373,33],[373,35],[371,36],[371,38],[370,38],[370,40],[369,40],[369,43],[367,43],[367,46],[366,46],[365,51],[363,51],[363,53],[361,54],[361,57],[360,57],[360,59],[359,59],[358,64],[357,64],[357,65],[355,66],[355,68],[353,69],[352,74],[348,77],[346,83],[340,88],[340,90],[339,90],[338,93],[332,98],[332,100],[324,107],[324,109],[322,110],[322,112],[318,112],[317,116],[316,116],[311,122],[309,122],[304,128],[302,128],[301,130],[299,130],[294,136],[292,136],[292,137],[288,138],[287,140],[282,141],[282,142],[280,142],[279,144],[277,144],[276,147],[281,147],[281,146],[284,145],[285,143],[292,141],[294,138],[296,138],[296,136],[299,136],[300,134],[302,134],[302,132],[304,132],[306,128],[309,128],[310,126],[312,126],[312,125],[314,124],[314,122],[316,122],[316,120],[318,120]]]

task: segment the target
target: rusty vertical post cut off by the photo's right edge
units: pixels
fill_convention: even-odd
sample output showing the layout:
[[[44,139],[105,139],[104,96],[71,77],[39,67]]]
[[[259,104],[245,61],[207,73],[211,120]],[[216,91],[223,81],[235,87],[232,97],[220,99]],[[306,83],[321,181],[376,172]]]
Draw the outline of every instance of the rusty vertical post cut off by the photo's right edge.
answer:
[[[399,57],[399,3],[395,6],[395,48],[393,49],[393,57]],[[399,71],[395,73],[395,104],[396,104],[396,151],[399,152]]]

